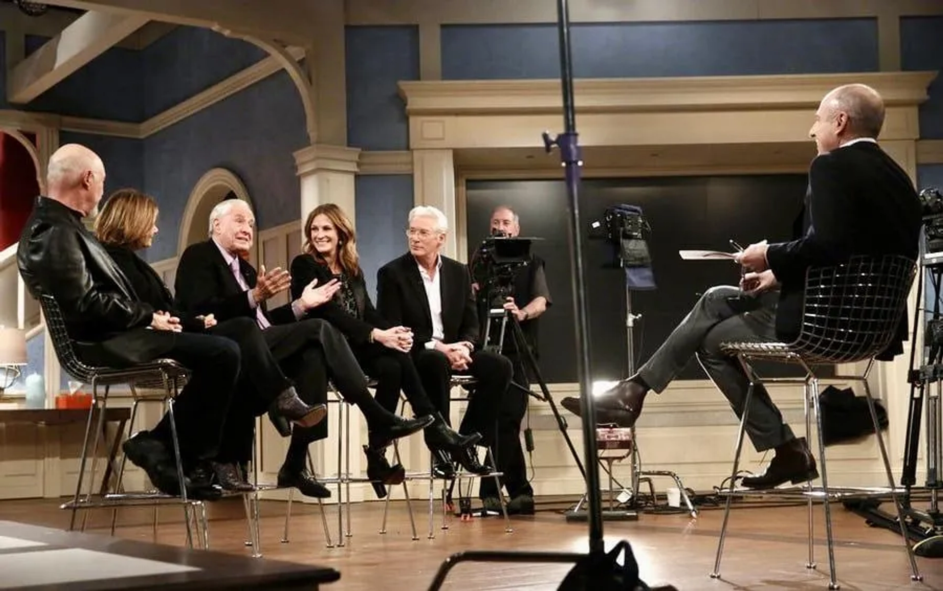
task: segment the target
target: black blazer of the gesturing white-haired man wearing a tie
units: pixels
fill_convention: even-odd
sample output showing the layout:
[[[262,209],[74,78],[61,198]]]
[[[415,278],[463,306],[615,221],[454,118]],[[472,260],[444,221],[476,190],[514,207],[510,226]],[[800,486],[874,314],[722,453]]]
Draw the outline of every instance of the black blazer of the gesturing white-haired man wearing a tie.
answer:
[[[252,289],[256,286],[256,269],[240,258],[240,271],[243,279]],[[246,316],[255,320],[256,310],[249,306],[249,296],[240,287],[223,253],[212,239],[190,245],[177,264],[174,281],[176,297],[175,308],[193,315],[213,314],[217,322],[230,318]],[[268,310],[261,302],[262,312],[273,325],[288,324],[295,321],[291,305],[279,306]]]

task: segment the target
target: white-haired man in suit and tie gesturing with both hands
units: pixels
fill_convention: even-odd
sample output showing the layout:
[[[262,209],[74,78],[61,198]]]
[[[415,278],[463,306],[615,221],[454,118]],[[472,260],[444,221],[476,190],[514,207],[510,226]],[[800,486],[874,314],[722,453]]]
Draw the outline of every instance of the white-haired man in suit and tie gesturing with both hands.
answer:
[[[432,423],[431,416],[403,419],[381,407],[369,390],[347,340],[329,323],[307,318],[307,312],[330,299],[336,281],[318,285],[312,281],[289,304],[269,310],[266,300],[289,289],[291,278],[280,268],[261,274],[243,258],[253,245],[255,216],[242,200],[223,200],[209,215],[210,239],[191,245],[180,257],[175,280],[177,308],[191,314],[213,314],[217,321],[252,318],[282,371],[295,383],[307,404],[323,404],[330,378],[344,398],[360,408],[370,429],[370,446],[382,448]],[[234,399],[242,400],[241,397]],[[252,412],[245,432],[251,437]],[[272,416],[272,413],[270,413]],[[283,434],[288,426],[276,415],[273,423]],[[307,446],[327,436],[326,422],[309,428],[295,427],[285,463],[278,471],[278,485],[296,487],[306,496],[327,497],[330,491],[317,482],[306,467]]]

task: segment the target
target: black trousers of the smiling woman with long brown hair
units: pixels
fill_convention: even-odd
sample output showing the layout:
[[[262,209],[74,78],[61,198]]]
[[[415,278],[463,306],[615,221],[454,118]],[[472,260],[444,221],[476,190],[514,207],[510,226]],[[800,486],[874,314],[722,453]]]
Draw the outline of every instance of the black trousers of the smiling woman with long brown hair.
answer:
[[[395,413],[400,401],[400,391],[403,391],[416,416],[430,415],[438,410],[422,388],[422,379],[408,353],[390,349],[380,343],[353,345],[351,348],[360,367],[376,380],[374,397],[381,407]]]

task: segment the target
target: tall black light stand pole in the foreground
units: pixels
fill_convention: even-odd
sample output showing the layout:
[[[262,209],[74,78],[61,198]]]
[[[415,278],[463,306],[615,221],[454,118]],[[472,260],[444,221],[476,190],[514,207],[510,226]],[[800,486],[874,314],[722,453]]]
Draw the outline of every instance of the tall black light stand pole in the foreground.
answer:
[[[586,279],[583,270],[582,224],[580,223],[580,147],[573,108],[573,73],[570,54],[570,11],[567,0],[556,0],[557,29],[560,37],[560,82],[563,86],[564,132],[554,139],[544,133],[549,152],[554,145],[560,149],[560,160],[566,168],[567,193],[570,198],[571,273],[576,318],[576,373],[580,377],[580,414],[583,417],[583,456],[586,466],[587,505],[589,521],[589,553],[603,553],[603,505],[599,487],[599,464],[596,461],[596,408],[592,399],[592,377],[589,375],[589,318],[587,314]]]

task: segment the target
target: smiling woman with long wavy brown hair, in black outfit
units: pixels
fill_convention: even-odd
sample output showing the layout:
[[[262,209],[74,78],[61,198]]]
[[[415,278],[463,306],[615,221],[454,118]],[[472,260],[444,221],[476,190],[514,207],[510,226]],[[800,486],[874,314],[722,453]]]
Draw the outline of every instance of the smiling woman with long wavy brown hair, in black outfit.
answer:
[[[409,357],[412,331],[407,327],[390,327],[373,308],[350,219],[338,205],[324,203],[308,214],[305,230],[305,253],[291,261],[291,296],[300,294],[312,280],[319,283],[340,280],[341,288],[334,299],[309,313],[327,320],[347,337],[360,366],[376,380],[375,397],[380,406],[395,412],[402,390],[414,413],[436,417],[435,423],[425,429],[425,443],[433,454],[437,477],[455,475],[450,456],[469,468],[468,446],[481,439],[481,435],[459,435],[429,401]],[[372,472],[403,471],[399,465],[389,468],[383,450],[365,447],[364,451],[368,458],[367,475],[371,478]]]

